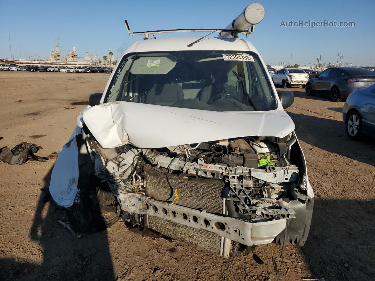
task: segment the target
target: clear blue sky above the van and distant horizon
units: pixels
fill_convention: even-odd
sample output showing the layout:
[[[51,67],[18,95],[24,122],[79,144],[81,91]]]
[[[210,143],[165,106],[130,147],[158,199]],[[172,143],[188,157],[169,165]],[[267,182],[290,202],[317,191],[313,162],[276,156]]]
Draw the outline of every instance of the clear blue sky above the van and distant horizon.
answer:
[[[0,0],[0,58],[10,58],[9,37],[15,59],[49,55],[58,36],[60,52],[75,45],[78,57],[85,52],[98,57],[120,56],[141,36],[131,31],[176,28],[225,28],[252,1],[17,1]],[[292,64],[343,62],[375,65],[375,1],[261,1],[263,21],[249,35],[266,63]],[[280,27],[284,21],[354,21],[356,27]],[[217,34],[217,33],[216,33]],[[156,34],[157,38],[203,36],[204,33]],[[212,36],[212,35],[211,35]],[[240,35],[240,38],[245,36]]]

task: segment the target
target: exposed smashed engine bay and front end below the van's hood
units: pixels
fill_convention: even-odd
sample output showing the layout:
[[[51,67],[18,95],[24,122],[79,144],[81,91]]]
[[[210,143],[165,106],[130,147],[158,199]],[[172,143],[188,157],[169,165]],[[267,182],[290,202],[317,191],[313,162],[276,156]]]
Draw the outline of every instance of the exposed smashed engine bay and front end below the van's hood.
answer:
[[[84,138],[95,175],[133,226],[224,257],[246,246],[306,241],[313,199],[294,133],[154,149],[103,148],[89,132]]]

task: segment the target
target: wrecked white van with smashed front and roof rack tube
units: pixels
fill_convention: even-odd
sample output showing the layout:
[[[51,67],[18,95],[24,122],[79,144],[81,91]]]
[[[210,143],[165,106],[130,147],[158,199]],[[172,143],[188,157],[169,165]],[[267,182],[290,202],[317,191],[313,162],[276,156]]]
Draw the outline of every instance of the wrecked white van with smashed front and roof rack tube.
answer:
[[[219,37],[132,33],[146,40],[90,96],[52,172],[49,192],[72,228],[122,218],[223,257],[304,245],[314,193],[284,111],[293,93],[277,93],[257,49],[237,38],[263,16],[251,4]]]

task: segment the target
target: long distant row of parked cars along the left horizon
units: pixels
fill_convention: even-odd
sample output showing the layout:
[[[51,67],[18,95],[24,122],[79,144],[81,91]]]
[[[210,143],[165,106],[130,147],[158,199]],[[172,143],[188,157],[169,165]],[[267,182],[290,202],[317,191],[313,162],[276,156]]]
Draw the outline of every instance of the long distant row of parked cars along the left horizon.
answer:
[[[81,73],[111,73],[113,67],[102,66],[46,66],[46,65],[17,65],[0,64],[0,70],[38,71],[38,72],[81,72]]]

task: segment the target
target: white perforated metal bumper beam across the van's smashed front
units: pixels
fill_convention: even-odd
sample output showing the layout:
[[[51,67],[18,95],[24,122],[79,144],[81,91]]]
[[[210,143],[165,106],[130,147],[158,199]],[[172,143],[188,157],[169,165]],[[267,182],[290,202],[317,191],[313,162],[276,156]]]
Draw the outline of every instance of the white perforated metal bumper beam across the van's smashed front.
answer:
[[[271,243],[285,229],[286,219],[252,222],[215,215],[205,210],[196,210],[150,199],[139,193],[119,194],[121,209],[173,221],[195,229],[207,230],[226,239],[252,246]]]

